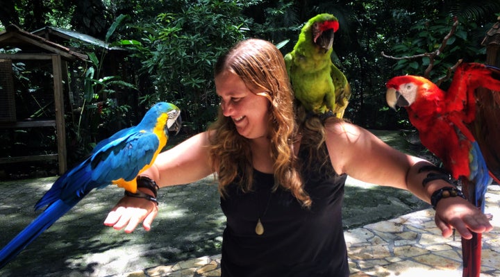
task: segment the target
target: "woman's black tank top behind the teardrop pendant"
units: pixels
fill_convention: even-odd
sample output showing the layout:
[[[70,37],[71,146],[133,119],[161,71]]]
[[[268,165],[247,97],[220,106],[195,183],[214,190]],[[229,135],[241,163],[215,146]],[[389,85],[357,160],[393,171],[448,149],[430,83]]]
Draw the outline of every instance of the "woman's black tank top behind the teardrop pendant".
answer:
[[[314,163],[313,163],[314,165]],[[303,170],[311,208],[281,187],[274,176],[253,171],[253,191],[228,185],[221,208],[227,217],[222,242],[222,277],[349,276],[342,230],[345,174]],[[270,199],[269,199],[270,197]],[[263,235],[255,228],[260,217]]]

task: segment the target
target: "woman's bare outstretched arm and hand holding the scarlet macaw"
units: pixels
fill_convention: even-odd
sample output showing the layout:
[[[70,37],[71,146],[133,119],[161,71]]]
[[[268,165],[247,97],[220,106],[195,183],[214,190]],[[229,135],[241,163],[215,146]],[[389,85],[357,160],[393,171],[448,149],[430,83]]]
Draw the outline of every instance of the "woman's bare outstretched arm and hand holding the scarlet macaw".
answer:
[[[432,165],[426,160],[406,155],[388,146],[369,131],[346,122],[331,120],[326,123],[326,146],[335,171],[360,181],[408,190],[427,203],[431,195],[442,187],[451,187],[437,179],[422,185],[431,171],[420,171]],[[435,222],[444,237],[456,228],[465,239],[470,230],[483,233],[492,230],[490,221],[471,203],[460,197],[442,199],[436,206]]]

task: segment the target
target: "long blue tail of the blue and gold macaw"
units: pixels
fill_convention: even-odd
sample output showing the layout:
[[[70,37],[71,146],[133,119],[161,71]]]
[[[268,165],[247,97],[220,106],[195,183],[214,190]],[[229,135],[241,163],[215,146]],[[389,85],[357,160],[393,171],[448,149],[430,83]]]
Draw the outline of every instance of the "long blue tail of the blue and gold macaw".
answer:
[[[7,263],[15,258],[28,244],[33,242],[44,230],[49,228],[56,220],[65,215],[65,213],[74,204],[68,205],[62,200],[54,202],[49,205],[47,210],[44,210],[35,220],[31,222],[24,230],[22,230],[16,237],[14,237],[6,246],[0,251],[0,269],[7,265]]]

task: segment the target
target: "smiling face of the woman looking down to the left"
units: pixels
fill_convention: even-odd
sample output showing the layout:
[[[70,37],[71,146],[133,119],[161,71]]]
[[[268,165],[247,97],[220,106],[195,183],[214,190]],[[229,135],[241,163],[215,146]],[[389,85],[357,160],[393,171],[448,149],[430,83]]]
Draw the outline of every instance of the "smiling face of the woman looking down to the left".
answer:
[[[215,76],[215,87],[222,113],[233,119],[240,135],[267,137],[269,100],[265,96],[251,92],[238,75],[228,71]]]

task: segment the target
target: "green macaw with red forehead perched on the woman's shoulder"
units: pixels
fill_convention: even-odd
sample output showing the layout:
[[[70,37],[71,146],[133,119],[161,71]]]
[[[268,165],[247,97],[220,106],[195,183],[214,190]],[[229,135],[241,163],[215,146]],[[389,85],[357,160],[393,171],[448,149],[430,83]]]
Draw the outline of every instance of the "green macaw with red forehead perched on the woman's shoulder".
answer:
[[[290,81],[297,98],[308,112],[333,112],[344,117],[351,87],[333,65],[333,37],[339,28],[337,17],[322,13],[302,27],[294,49],[285,55]]]

